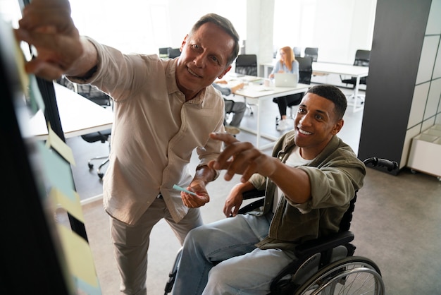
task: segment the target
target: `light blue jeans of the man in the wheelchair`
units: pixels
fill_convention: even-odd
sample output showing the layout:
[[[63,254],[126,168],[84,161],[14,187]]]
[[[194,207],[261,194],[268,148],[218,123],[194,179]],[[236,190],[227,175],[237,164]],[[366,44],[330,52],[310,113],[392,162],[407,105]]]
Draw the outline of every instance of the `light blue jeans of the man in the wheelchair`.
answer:
[[[268,235],[270,222],[271,216],[237,215],[192,229],[173,294],[268,294],[271,279],[295,258],[254,246]]]

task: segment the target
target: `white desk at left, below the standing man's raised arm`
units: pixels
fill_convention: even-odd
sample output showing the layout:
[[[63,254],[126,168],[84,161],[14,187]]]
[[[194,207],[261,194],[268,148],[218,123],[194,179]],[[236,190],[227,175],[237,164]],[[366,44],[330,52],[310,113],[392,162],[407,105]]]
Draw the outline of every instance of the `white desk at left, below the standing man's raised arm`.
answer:
[[[54,83],[58,113],[65,138],[82,136],[112,127],[113,113],[87,98]],[[38,140],[47,138],[46,119],[42,110],[30,119],[30,130],[25,134]]]

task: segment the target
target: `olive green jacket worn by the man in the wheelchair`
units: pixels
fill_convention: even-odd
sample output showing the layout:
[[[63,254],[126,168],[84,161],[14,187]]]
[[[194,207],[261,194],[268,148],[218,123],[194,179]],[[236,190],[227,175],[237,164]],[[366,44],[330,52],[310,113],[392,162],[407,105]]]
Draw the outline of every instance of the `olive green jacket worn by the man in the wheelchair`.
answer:
[[[294,131],[282,136],[273,148],[273,157],[285,162],[294,149]],[[308,174],[311,198],[304,204],[280,198],[271,221],[268,237],[259,248],[292,249],[298,243],[337,232],[344,212],[359,188],[363,186],[366,167],[357,159],[352,148],[334,136],[313,161],[297,167]],[[259,174],[250,182],[259,190],[266,190],[265,205],[255,215],[271,213],[275,183]]]

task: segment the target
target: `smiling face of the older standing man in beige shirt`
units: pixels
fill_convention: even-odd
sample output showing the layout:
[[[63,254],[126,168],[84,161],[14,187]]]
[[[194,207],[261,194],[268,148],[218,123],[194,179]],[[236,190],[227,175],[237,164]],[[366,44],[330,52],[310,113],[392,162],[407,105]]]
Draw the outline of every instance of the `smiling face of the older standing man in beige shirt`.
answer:
[[[186,100],[230,71],[227,62],[233,47],[232,37],[213,23],[204,23],[193,35],[185,37],[180,47],[176,82]]]

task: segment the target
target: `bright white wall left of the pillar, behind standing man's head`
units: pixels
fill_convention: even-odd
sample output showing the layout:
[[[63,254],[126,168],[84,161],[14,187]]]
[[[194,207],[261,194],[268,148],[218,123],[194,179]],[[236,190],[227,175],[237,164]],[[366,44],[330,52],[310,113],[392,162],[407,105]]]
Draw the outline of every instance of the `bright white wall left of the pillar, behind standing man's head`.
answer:
[[[80,34],[126,53],[146,54],[157,53],[160,47],[180,47],[192,25],[206,13],[230,19],[245,39],[246,4],[235,0],[70,0]]]

